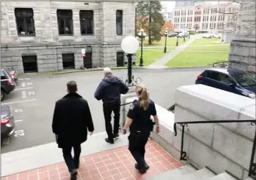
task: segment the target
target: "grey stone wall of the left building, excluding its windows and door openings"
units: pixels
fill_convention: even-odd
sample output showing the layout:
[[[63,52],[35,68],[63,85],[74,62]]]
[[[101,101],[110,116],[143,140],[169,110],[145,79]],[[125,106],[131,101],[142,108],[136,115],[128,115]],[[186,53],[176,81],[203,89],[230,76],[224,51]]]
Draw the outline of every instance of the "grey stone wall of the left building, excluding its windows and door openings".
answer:
[[[86,5],[86,2],[88,3]],[[135,33],[135,4],[132,0],[97,2],[1,2],[2,3],[2,66],[23,73],[22,55],[37,54],[38,71],[61,71],[61,54],[75,56],[75,68],[83,65],[81,49],[91,46],[93,66],[117,66],[116,54],[121,51],[124,36]],[[18,36],[15,8],[32,8],[35,36]],[[58,34],[57,9],[72,10],[72,36]],[[93,10],[93,35],[80,33],[80,10]],[[123,33],[116,34],[116,11],[123,10]]]

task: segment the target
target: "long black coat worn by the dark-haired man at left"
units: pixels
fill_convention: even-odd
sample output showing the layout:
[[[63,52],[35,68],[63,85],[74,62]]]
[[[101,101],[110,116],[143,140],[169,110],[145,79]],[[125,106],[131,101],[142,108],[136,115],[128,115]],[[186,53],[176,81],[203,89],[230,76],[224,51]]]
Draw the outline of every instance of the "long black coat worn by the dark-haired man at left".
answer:
[[[56,102],[52,131],[57,135],[58,147],[82,144],[87,140],[87,130],[93,132],[93,119],[81,95],[68,93]]]

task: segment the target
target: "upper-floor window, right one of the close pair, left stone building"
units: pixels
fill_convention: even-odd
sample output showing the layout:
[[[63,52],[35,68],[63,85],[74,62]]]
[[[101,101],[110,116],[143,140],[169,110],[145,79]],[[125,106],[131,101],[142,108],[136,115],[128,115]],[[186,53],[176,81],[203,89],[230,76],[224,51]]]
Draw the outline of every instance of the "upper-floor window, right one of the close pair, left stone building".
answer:
[[[93,35],[93,11],[81,10],[79,15],[81,34]]]

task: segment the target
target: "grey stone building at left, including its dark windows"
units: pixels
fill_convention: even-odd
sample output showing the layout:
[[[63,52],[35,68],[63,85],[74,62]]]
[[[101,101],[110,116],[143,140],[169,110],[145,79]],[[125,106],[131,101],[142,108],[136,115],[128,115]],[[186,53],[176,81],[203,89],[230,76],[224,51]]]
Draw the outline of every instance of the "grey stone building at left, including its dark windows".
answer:
[[[19,73],[123,66],[133,0],[2,1],[1,65]],[[86,49],[86,57],[82,57]]]

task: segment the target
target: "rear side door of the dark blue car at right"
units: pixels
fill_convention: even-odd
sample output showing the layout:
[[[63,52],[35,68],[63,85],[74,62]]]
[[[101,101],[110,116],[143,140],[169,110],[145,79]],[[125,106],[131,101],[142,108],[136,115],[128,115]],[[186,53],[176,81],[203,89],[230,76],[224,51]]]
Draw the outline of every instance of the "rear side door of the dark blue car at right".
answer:
[[[209,85],[212,88],[219,88],[219,72],[218,71],[205,71],[203,85]]]

